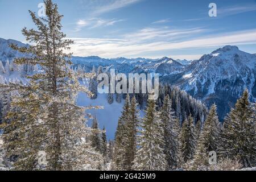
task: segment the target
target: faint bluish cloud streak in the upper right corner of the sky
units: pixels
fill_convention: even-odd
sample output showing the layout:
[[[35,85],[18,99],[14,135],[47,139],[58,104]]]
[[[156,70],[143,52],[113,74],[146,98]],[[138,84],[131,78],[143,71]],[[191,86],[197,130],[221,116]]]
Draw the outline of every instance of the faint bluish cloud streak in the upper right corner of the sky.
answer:
[[[218,16],[229,16],[240,13],[246,13],[256,10],[256,3],[245,4],[245,5],[236,5],[228,7],[217,7]]]

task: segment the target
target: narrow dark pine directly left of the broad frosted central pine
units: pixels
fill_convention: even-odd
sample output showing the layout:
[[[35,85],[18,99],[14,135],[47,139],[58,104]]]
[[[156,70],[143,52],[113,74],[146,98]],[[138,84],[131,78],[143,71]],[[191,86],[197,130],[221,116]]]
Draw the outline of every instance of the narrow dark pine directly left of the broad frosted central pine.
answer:
[[[139,110],[137,109],[137,100],[135,97],[131,99],[129,109],[129,119],[127,119],[125,130],[125,169],[131,171],[133,168],[133,162],[135,159],[135,153],[137,148],[137,132],[139,125]]]

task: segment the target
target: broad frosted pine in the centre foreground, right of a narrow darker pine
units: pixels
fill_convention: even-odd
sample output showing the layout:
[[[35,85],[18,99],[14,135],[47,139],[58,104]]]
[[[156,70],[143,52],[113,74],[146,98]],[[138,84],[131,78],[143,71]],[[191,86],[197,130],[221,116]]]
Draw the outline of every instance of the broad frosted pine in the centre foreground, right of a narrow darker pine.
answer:
[[[154,100],[148,100],[141,128],[133,169],[163,171],[167,165],[162,147],[164,145],[164,130]]]

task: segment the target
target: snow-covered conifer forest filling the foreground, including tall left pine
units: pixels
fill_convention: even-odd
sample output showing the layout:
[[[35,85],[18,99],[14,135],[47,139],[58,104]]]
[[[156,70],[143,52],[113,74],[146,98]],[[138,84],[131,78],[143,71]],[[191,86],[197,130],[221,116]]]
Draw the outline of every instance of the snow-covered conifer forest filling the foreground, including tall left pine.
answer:
[[[108,69],[87,73],[72,65],[67,52],[73,42],[61,32],[63,16],[52,0],[45,3],[47,18],[30,11],[37,29],[22,30],[32,46],[10,44],[26,56],[0,61],[0,171],[256,167],[256,105],[247,89],[223,122],[215,104],[208,109],[169,84],[160,84],[156,101],[149,94],[109,93],[105,107],[118,103],[122,113],[108,140],[96,114],[104,108],[77,101],[81,93],[92,103],[100,97],[96,78]],[[217,158],[212,163],[211,152]]]

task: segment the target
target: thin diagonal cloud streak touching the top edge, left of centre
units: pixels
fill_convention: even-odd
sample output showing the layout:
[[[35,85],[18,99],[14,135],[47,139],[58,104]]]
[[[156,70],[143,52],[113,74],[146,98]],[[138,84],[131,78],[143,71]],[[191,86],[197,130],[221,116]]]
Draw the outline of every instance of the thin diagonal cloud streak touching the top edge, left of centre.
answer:
[[[129,6],[131,4],[140,2],[143,0],[114,0],[114,1],[106,1],[106,5],[102,5],[97,7],[97,9],[94,11],[94,14],[102,14],[107,13],[109,11],[121,9],[123,7]]]

